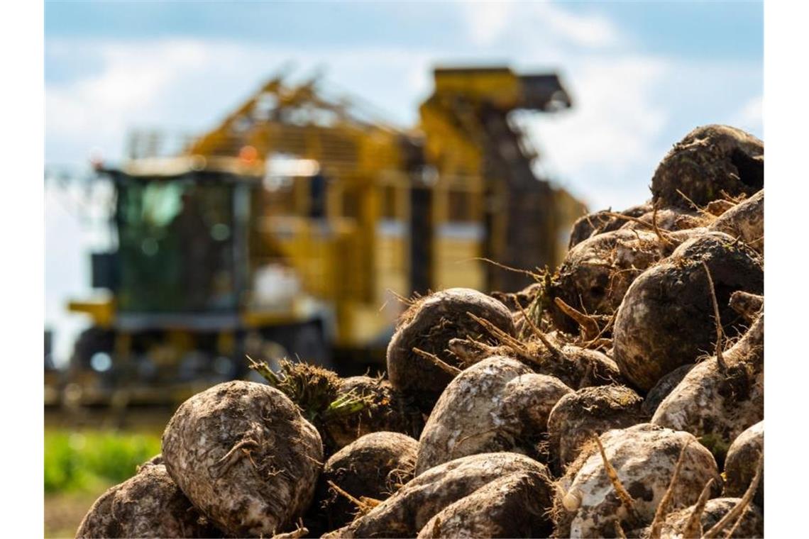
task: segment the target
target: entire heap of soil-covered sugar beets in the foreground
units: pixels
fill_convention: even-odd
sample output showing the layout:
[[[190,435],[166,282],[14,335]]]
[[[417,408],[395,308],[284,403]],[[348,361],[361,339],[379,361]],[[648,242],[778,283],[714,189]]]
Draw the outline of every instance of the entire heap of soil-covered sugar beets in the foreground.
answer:
[[[708,125],[520,293],[409,300],[388,376],[189,398],[78,537],[761,537],[764,146]]]

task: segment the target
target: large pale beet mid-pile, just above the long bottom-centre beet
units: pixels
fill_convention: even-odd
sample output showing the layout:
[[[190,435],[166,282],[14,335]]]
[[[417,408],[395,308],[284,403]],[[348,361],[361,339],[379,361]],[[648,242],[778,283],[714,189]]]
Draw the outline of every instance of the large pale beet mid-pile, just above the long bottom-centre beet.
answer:
[[[494,356],[447,385],[418,442],[416,474],[476,453],[515,451],[538,457],[548,415],[569,387],[532,373],[519,361]]]

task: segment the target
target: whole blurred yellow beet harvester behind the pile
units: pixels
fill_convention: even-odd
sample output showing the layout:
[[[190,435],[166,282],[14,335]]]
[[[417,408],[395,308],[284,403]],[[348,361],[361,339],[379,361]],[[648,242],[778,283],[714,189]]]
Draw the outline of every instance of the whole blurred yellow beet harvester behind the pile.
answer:
[[[80,402],[176,402],[247,375],[245,356],[340,373],[382,368],[402,297],[515,292],[553,267],[585,208],[537,178],[515,111],[571,106],[556,74],[435,69],[417,128],[375,120],[318,82],[271,79],[172,155],[134,137],[98,166],[113,251],[70,363]],[[487,262],[494,260],[498,265]]]

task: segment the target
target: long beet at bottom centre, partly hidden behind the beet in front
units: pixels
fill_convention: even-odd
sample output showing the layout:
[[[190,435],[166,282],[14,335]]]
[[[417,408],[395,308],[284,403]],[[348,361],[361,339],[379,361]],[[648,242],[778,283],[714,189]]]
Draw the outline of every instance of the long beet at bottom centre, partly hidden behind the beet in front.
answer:
[[[518,453],[470,455],[435,466],[348,526],[324,537],[416,537],[445,507],[511,474],[549,477],[544,465]],[[552,492],[550,479],[544,486]]]

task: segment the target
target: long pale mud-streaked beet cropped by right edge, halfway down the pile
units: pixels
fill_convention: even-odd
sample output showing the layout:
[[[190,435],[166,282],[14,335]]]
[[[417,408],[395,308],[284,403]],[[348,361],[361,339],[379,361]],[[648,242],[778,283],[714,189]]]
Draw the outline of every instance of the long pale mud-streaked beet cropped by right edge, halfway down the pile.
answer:
[[[651,422],[691,432],[722,463],[745,429],[764,419],[764,314],[739,342],[702,361],[663,399]]]

